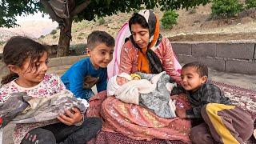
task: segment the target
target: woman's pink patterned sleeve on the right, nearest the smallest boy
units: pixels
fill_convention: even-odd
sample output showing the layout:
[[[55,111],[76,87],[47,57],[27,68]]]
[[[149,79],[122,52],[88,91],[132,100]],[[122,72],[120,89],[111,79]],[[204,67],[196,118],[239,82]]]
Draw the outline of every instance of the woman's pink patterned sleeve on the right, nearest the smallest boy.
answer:
[[[165,42],[163,43],[163,51],[164,55],[162,58],[162,66],[166,70],[166,73],[170,75],[171,78],[174,78],[174,80],[178,83],[182,81],[180,74],[178,71],[174,68],[174,51],[171,46],[171,43],[168,38],[165,38]]]

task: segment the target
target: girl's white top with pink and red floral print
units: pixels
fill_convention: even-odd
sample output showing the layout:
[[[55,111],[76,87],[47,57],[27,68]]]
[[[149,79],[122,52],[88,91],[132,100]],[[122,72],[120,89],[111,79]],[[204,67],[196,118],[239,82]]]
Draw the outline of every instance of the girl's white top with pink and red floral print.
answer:
[[[13,80],[0,88],[0,102],[6,102],[12,93],[26,92],[31,97],[42,98],[57,94],[62,90],[66,90],[66,87],[60,78],[55,74],[46,74],[42,82],[40,82],[37,86],[30,88],[18,86],[15,80]],[[59,121],[53,120],[49,122],[17,124],[17,126],[14,128],[14,143],[21,143],[26,133],[28,133],[30,130],[56,122]]]

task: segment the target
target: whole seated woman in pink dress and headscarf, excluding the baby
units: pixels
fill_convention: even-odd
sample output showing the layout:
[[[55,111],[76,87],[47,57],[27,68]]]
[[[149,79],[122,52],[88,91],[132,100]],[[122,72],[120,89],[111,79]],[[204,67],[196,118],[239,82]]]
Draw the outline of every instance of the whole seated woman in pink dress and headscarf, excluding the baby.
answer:
[[[175,82],[180,82],[179,74],[174,70],[174,52],[167,38],[159,34],[159,21],[151,10],[142,10],[134,14],[129,21],[131,36],[122,47],[119,72],[128,74],[136,71],[157,74],[166,71]],[[87,116],[95,116],[93,104],[106,98],[100,93],[90,99]],[[177,99],[185,108],[185,97]],[[102,101],[102,100],[98,100]],[[190,121],[180,118],[159,118],[150,110],[109,97],[102,102],[101,116],[104,118],[104,131],[118,132],[137,140],[153,138],[190,142]]]

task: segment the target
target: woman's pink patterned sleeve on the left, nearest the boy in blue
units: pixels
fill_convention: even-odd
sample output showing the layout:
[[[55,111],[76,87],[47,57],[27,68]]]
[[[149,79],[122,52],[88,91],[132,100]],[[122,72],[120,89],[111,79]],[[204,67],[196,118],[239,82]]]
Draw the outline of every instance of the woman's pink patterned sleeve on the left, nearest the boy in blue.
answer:
[[[119,74],[122,72],[130,74],[131,70],[132,70],[132,60],[129,55],[129,48],[126,46],[126,44],[124,44],[122,46],[121,55],[120,55]]]

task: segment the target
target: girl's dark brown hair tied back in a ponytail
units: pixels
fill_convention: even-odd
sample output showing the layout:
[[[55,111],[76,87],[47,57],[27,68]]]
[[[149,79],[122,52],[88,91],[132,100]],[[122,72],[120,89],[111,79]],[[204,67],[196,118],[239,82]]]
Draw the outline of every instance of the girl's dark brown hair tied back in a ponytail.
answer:
[[[35,63],[42,58],[45,52],[47,52],[46,46],[30,38],[14,36],[9,39],[3,48],[3,62],[5,62],[6,66],[14,65],[21,67],[26,58],[30,58],[29,68],[35,68],[37,70],[38,67]],[[1,84],[11,82],[15,78],[18,78],[18,74],[10,72],[10,74],[2,78]]]

